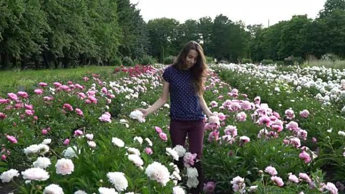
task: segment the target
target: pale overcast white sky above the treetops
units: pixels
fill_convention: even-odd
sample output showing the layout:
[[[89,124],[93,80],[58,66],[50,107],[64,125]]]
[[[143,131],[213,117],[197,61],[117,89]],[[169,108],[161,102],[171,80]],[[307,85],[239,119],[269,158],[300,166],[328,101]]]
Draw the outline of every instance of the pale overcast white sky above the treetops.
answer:
[[[212,19],[223,14],[232,21],[242,20],[246,25],[263,24],[265,27],[293,15],[318,16],[326,0],[130,0],[139,2],[137,8],[144,20],[174,18],[180,23],[187,19],[197,20],[204,16]]]

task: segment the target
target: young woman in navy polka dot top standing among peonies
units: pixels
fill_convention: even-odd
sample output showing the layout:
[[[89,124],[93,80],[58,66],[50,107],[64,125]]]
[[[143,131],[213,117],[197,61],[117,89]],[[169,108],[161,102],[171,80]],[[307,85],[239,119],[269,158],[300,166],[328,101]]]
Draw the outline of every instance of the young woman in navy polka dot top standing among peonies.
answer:
[[[164,70],[163,91],[159,99],[147,109],[138,109],[145,117],[163,106],[170,94],[169,131],[172,147],[185,146],[188,135],[189,152],[197,154],[194,167],[198,170],[199,185],[190,190],[192,193],[201,193],[203,187],[201,169],[205,125],[203,113],[207,117],[213,115],[203,98],[206,71],[207,65],[202,47],[195,41],[189,41],[174,63]]]

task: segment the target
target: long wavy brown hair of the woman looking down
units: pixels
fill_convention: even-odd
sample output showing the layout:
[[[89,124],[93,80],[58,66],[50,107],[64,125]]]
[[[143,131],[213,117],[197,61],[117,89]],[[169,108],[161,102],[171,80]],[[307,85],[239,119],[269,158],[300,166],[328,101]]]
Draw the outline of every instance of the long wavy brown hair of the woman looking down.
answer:
[[[194,90],[198,95],[203,94],[203,87],[204,87],[204,79],[207,75],[207,64],[204,55],[204,50],[195,41],[189,41],[187,44],[181,49],[179,55],[176,57],[172,66],[179,70],[184,70],[187,68],[186,65],[186,57],[190,50],[195,50],[198,52],[197,61],[190,71],[192,73],[192,82],[194,86]]]

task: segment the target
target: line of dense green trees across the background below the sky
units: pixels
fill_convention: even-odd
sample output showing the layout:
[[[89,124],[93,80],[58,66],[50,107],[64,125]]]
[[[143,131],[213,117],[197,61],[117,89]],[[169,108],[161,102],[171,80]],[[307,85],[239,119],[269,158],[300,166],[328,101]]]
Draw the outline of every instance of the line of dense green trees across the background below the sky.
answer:
[[[229,62],[345,57],[345,0],[327,0],[315,19],[292,16],[264,28],[224,15],[180,23],[143,20],[129,0],[0,0],[0,64],[11,68],[163,62],[189,40]]]

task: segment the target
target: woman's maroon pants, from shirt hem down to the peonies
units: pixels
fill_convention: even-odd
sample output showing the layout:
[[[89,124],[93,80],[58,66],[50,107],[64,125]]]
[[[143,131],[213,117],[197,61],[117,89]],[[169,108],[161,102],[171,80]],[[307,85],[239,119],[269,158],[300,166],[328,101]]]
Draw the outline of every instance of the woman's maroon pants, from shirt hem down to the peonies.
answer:
[[[197,154],[197,159],[201,160],[204,126],[204,120],[171,120],[169,131],[172,147],[174,148],[176,145],[185,147],[188,135],[189,152]]]

